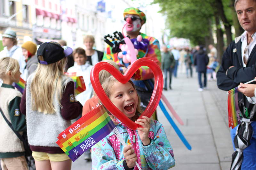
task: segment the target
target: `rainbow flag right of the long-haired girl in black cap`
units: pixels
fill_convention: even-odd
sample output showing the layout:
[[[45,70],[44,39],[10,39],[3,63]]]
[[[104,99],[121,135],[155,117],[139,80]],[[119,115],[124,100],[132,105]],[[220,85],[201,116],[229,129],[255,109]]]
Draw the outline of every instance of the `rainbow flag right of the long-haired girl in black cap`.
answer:
[[[80,94],[81,92],[84,92],[86,90],[85,83],[84,83],[84,78],[83,76],[76,76],[76,72],[73,73],[64,73],[68,77],[72,78],[73,81],[75,82],[75,93]]]

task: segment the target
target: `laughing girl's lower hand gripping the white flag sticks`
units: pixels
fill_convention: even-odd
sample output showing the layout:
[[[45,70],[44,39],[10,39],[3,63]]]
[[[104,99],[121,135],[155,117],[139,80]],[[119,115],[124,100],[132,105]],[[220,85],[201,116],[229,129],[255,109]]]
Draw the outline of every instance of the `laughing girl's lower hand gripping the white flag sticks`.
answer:
[[[128,166],[128,168],[132,169],[135,166],[137,160],[137,156],[132,149],[132,145],[128,144],[127,146],[125,146],[123,154],[126,165]]]

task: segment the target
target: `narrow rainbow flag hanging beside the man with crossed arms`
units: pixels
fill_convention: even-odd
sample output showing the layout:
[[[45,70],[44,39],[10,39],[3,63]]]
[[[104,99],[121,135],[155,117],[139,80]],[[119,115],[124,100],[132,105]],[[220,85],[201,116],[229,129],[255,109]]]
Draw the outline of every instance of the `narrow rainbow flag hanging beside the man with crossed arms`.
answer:
[[[232,129],[241,123],[237,89],[238,87],[228,91],[228,127],[232,127]]]

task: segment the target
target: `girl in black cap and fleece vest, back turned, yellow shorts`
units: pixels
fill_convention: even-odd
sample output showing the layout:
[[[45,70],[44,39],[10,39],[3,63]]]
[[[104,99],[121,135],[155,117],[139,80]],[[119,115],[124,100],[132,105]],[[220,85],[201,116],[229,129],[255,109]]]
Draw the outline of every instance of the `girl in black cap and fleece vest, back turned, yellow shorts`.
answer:
[[[64,48],[64,49],[63,49]],[[20,110],[26,114],[28,143],[36,170],[70,170],[71,159],[56,144],[70,120],[82,113],[74,98],[74,82],[63,74],[69,47],[45,42],[37,50],[39,65],[28,77]]]

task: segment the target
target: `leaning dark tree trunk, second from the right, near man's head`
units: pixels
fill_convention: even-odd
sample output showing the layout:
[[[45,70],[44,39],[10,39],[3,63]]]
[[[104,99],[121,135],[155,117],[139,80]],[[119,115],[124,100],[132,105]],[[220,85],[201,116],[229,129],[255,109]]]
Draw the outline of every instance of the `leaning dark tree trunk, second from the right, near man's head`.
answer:
[[[227,36],[227,46],[228,46],[232,42],[231,24],[228,22],[228,19],[225,15],[222,0],[215,0],[215,2],[216,2],[218,14],[225,27],[225,33]]]

